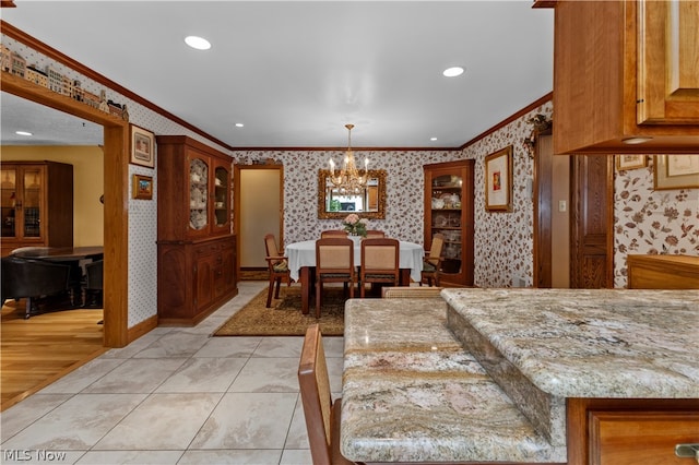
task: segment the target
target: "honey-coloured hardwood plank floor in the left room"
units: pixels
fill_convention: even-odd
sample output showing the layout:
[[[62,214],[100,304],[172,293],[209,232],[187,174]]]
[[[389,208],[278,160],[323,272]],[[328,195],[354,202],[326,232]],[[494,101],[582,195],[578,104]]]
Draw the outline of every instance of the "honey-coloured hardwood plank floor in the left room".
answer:
[[[24,319],[24,300],[8,300],[0,323],[0,412],[103,354],[102,309]]]

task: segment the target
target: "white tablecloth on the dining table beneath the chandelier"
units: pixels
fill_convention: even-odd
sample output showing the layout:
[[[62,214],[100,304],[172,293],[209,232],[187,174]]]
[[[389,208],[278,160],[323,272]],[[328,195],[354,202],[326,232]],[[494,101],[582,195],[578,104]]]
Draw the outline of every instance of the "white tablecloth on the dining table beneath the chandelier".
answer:
[[[411,279],[419,283],[420,272],[423,271],[423,258],[425,250],[423,246],[414,242],[401,240],[401,258],[399,266],[401,269],[411,269]],[[286,257],[288,258],[288,269],[292,279],[298,281],[299,272],[303,266],[316,266],[316,241],[304,240],[286,246]],[[354,264],[362,264],[362,246],[356,243],[354,247]]]

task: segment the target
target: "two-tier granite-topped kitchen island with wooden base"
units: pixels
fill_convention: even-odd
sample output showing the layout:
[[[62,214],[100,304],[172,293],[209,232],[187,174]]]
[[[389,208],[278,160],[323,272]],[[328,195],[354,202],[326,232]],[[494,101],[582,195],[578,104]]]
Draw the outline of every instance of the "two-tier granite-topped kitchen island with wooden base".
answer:
[[[623,463],[632,442],[629,463],[668,463],[699,442],[699,291],[441,296],[348,301],[348,458]]]

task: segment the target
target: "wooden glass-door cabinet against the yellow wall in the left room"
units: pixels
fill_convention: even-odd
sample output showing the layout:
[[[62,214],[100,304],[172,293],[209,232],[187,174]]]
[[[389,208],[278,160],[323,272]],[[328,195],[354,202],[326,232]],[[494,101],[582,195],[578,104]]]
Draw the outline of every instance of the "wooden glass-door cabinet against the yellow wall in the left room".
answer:
[[[73,166],[0,164],[2,257],[20,247],[73,246]]]

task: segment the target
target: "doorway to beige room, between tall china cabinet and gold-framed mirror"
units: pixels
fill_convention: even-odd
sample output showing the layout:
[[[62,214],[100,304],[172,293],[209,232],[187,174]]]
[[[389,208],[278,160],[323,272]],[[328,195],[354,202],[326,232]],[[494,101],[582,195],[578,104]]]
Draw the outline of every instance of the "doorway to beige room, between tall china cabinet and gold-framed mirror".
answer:
[[[264,236],[273,234],[284,247],[284,167],[236,165],[234,183],[238,276],[259,275],[268,267]]]

